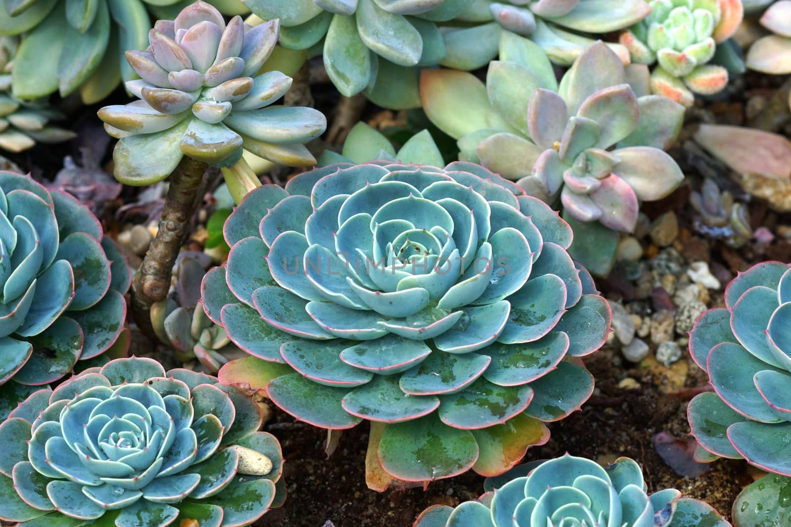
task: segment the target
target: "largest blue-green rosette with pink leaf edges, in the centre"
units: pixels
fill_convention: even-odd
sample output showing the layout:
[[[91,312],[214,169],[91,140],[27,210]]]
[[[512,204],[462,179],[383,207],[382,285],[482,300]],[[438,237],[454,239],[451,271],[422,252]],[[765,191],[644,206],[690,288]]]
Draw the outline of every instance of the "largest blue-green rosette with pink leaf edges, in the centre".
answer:
[[[330,430],[372,422],[398,480],[504,472],[580,408],[607,302],[557,213],[475,164],[335,164],[225,222],[206,314],[255,358],[222,382]],[[378,456],[378,462],[377,462]]]

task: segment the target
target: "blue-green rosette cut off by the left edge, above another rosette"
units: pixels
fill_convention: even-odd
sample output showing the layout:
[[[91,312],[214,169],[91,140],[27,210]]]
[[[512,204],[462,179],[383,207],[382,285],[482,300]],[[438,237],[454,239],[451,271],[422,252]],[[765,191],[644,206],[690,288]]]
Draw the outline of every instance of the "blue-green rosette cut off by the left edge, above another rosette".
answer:
[[[0,225],[0,384],[43,385],[78,360],[126,352],[131,272],[96,216],[69,194],[0,171]]]

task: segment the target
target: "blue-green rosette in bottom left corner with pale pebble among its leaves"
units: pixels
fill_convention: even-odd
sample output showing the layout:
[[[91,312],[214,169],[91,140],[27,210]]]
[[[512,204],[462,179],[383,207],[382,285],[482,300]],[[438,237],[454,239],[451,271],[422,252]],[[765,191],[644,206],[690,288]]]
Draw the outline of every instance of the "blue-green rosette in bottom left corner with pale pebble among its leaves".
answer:
[[[115,359],[0,424],[0,518],[20,527],[249,525],[285,498],[258,405],[217,378]]]

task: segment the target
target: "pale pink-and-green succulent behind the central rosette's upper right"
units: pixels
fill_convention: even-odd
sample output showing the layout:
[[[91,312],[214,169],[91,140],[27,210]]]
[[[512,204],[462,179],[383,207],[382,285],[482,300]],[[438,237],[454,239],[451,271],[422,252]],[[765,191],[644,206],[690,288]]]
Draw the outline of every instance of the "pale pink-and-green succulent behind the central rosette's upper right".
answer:
[[[560,201],[578,240],[573,258],[607,274],[639,201],[664,198],[683,180],[662,151],[679,133],[683,107],[648,95],[647,68],[625,68],[601,42],[559,85],[530,40],[503,32],[500,59],[490,63],[486,87],[470,73],[424,70],[426,115],[458,140],[460,159],[517,180],[551,205]]]

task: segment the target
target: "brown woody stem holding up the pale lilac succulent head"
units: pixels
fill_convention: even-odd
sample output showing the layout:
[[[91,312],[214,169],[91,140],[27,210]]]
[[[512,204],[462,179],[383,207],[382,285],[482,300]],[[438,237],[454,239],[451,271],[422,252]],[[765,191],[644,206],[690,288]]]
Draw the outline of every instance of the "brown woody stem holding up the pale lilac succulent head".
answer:
[[[151,304],[165,299],[176,256],[189,231],[206,163],[184,156],[170,175],[159,230],[132,282],[132,312],[142,331],[153,336]]]

